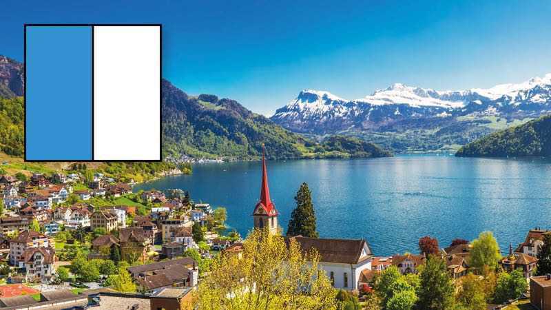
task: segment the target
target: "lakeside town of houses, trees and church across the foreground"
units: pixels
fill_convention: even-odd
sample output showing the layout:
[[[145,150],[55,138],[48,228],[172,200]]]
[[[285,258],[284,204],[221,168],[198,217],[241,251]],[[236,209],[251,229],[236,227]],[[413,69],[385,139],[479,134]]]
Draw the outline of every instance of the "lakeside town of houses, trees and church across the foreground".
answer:
[[[217,290],[224,285],[222,275],[233,276],[250,259],[256,265],[260,256],[251,257],[251,245],[254,251],[260,248],[254,255],[275,249],[262,262],[274,260],[276,266],[281,259],[292,265],[296,256],[300,264],[311,265],[317,273],[303,281],[322,281],[316,282],[320,291],[312,293],[326,304],[322,309],[450,309],[446,303],[464,307],[457,309],[519,309],[517,303],[551,307],[551,231],[530,229],[526,240],[511,244],[504,256],[490,232],[472,241],[457,238],[447,247],[424,236],[412,247],[418,246],[419,254],[375,256],[367,240],[318,238],[304,183],[287,236],[281,236],[264,156],[260,198],[251,206],[253,229],[245,240],[225,227],[223,207],[194,203],[182,189],[134,193],[127,183],[78,169],[3,175],[0,187],[0,309],[116,309],[123,304],[192,309],[205,298],[217,306],[201,309],[240,309],[225,302],[239,300],[238,291],[250,298],[257,285],[260,294],[260,280],[247,284],[240,271],[236,278],[245,287]],[[326,289],[319,289],[324,279]],[[319,299],[324,292],[328,300]],[[427,298],[440,303],[423,304]],[[260,302],[262,307],[269,303]]]

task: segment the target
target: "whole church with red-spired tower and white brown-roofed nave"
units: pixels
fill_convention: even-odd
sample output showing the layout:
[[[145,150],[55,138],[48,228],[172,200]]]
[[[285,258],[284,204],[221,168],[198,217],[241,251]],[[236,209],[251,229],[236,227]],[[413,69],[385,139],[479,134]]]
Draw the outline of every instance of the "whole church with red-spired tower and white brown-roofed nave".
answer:
[[[278,210],[270,198],[268,172],[264,147],[262,147],[262,181],[260,200],[254,207],[254,227],[268,227],[270,234],[281,234],[278,227]],[[306,238],[302,236],[284,237],[287,245],[291,240],[300,244],[302,251],[316,249],[320,254],[319,267],[329,277],[337,289],[357,290],[362,271],[371,270],[373,252],[363,239]]]

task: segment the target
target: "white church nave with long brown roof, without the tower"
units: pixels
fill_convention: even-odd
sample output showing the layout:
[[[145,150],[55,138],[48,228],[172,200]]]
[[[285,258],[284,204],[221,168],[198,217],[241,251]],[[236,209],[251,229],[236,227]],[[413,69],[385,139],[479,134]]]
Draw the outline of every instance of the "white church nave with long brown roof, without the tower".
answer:
[[[318,267],[323,270],[333,287],[337,289],[357,290],[360,274],[371,269],[373,257],[368,243],[362,239],[329,239],[284,237],[289,247],[290,242],[298,242],[305,253],[315,249],[320,254]]]

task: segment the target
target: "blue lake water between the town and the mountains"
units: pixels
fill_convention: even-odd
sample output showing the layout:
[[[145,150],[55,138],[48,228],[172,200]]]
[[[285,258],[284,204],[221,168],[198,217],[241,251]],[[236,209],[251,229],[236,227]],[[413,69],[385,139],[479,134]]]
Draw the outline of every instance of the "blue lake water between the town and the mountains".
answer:
[[[376,255],[417,253],[420,237],[442,246],[492,231],[501,251],[533,227],[551,227],[551,161],[453,156],[269,161],[271,198],[287,230],[300,183],[312,191],[318,231],[326,238],[364,238]],[[194,165],[139,189],[180,188],[196,202],[227,208],[243,236],[260,196],[260,162]]]

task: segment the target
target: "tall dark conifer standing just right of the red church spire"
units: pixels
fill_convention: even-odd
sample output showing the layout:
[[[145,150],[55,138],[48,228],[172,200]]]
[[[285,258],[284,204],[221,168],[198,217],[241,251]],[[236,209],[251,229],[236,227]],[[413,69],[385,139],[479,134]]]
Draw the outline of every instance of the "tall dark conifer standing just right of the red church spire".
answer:
[[[291,213],[287,236],[300,235],[318,238],[319,234],[315,229],[315,213],[311,194],[308,184],[302,183],[295,196],[297,207]]]

